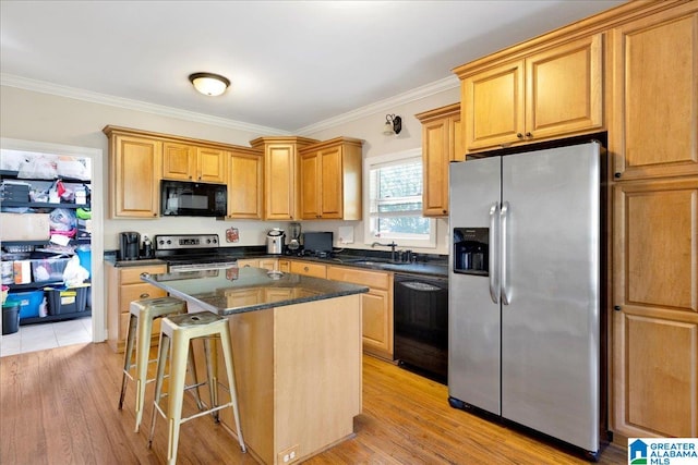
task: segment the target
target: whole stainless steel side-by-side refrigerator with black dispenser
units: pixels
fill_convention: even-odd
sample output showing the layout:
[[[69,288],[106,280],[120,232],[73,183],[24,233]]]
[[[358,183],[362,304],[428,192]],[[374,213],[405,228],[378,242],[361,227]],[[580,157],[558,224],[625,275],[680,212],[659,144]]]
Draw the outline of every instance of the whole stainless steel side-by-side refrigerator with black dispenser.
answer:
[[[450,166],[448,391],[595,455],[599,143]]]

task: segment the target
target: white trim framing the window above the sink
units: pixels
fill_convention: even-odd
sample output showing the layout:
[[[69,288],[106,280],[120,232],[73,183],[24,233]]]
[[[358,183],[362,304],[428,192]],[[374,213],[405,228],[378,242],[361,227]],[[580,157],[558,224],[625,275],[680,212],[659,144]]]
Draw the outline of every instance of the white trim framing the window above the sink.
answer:
[[[371,168],[375,164],[386,164],[393,162],[399,162],[407,158],[422,157],[421,148],[411,148],[409,150],[396,151],[393,154],[377,155],[375,157],[366,157],[363,159],[363,242],[365,245],[371,245],[376,240],[371,234],[371,185],[370,173]],[[424,167],[422,167],[424,169]],[[422,186],[422,188],[425,188]],[[433,218],[429,220],[429,241],[410,241],[402,238],[397,241],[398,247],[419,247],[419,248],[436,248],[436,221]],[[377,240],[377,242],[392,242],[390,238],[385,241]]]

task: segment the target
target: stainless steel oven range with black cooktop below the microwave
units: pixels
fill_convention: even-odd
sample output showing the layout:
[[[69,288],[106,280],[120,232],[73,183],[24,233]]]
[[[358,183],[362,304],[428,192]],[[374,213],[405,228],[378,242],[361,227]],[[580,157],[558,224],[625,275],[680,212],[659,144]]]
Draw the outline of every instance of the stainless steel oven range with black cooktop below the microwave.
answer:
[[[218,234],[163,234],[155,236],[155,257],[168,271],[237,268],[238,259],[220,247]]]

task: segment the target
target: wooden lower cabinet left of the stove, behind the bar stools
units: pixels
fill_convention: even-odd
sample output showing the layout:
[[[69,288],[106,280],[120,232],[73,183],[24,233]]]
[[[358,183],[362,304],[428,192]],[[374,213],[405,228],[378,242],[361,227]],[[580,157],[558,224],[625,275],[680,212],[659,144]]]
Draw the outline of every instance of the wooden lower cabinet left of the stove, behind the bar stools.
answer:
[[[106,266],[107,274],[107,343],[115,352],[123,352],[129,333],[131,302],[141,298],[163,297],[167,293],[141,281],[141,273],[164,273],[166,265],[147,267]],[[152,344],[157,344],[159,321],[153,325]]]

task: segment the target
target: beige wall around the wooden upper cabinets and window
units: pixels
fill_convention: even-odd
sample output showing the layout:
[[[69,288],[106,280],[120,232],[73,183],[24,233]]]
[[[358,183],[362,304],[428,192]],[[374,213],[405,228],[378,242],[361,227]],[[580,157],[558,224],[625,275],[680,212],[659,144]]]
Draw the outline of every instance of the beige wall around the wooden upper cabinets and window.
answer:
[[[405,151],[421,147],[421,125],[414,119],[416,113],[458,100],[458,88],[455,87],[409,103],[401,103],[389,108],[387,111],[376,112],[334,127],[299,135],[317,139],[328,139],[340,135],[361,138],[365,140],[364,157]],[[382,134],[385,113],[395,113],[402,117],[402,132],[399,136],[385,136]],[[249,140],[255,137],[274,135],[192,122],[147,111],[95,103],[15,87],[0,87],[0,137],[101,149],[105,172],[100,178],[97,178],[101,179],[105,186],[108,180],[106,170],[109,164],[107,162],[107,138],[101,129],[108,124],[242,146],[249,146]],[[106,206],[107,199],[105,198],[103,204],[105,211]],[[342,224],[345,223],[340,221],[309,221],[303,222],[303,230],[333,231],[336,235],[337,228]],[[352,221],[350,224],[354,227],[354,244],[350,247],[365,247],[362,244],[363,223],[361,221]],[[178,218],[111,220],[105,217],[104,246],[106,250],[117,248],[117,238],[120,231],[137,231],[141,234],[148,235],[213,232],[225,237],[225,230],[231,225],[240,230],[240,242],[236,245],[262,245],[269,228],[285,227],[284,223],[276,222],[216,221],[208,218],[196,218],[192,221],[192,219]],[[447,253],[447,224],[444,220],[438,220],[437,234],[436,250],[424,249],[423,252]]]

